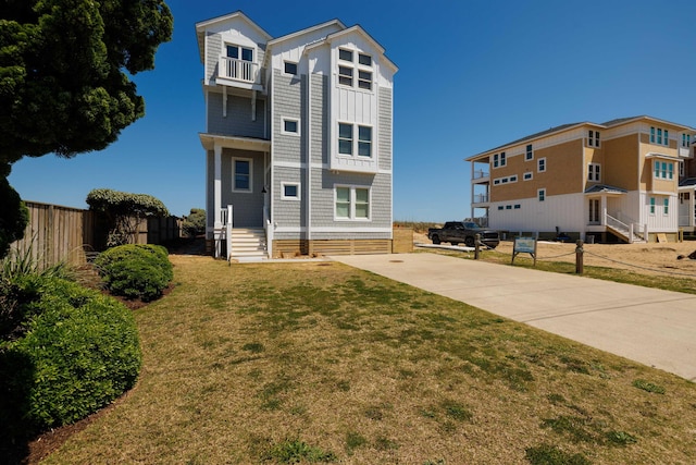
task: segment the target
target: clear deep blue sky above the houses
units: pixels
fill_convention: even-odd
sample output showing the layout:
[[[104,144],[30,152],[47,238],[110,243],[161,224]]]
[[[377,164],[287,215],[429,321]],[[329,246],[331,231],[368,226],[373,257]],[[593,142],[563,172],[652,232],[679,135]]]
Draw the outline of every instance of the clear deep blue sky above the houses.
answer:
[[[109,148],[16,162],[26,200],[86,208],[92,188],[204,207],[202,64],[195,24],[241,10],[278,37],[328,20],[360,24],[399,66],[394,218],[470,215],[464,158],[551,126],[649,114],[696,125],[693,0],[167,0],[174,37],[135,82],[146,117]]]

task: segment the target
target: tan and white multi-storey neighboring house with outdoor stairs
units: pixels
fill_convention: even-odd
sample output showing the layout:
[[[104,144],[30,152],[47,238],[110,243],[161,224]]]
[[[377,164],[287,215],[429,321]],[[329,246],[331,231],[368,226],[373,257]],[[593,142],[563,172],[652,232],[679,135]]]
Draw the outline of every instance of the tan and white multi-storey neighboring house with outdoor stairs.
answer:
[[[511,235],[676,241],[696,230],[695,134],[643,115],[564,124],[474,155],[471,216]]]

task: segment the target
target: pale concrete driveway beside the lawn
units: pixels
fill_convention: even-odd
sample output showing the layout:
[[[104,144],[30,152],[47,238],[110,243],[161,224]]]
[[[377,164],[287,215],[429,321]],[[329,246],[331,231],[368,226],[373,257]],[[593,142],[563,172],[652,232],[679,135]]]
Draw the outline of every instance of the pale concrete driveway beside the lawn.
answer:
[[[696,381],[696,295],[436,254],[331,258]]]

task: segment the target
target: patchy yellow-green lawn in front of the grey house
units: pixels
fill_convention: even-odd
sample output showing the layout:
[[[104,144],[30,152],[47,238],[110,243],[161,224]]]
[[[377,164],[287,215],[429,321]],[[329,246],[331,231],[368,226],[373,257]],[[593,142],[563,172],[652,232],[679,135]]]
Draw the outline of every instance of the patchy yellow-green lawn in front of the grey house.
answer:
[[[172,261],[138,384],[46,463],[696,457],[675,376],[340,264]]]

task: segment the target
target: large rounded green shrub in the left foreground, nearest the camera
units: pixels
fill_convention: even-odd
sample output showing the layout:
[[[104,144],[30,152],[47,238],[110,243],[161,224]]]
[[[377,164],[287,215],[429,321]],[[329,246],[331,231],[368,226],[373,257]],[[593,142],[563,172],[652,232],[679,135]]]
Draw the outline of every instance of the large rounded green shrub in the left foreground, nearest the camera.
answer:
[[[112,297],[53,277],[27,277],[26,331],[0,342],[0,430],[21,437],[74,423],[130,389],[141,354],[132,313]]]

